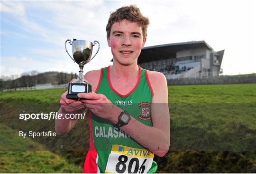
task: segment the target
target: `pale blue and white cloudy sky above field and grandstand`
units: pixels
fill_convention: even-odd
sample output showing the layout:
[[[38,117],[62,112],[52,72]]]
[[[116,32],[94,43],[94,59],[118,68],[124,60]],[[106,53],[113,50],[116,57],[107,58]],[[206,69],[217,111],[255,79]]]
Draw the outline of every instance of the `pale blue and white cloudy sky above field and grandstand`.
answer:
[[[101,45],[84,72],[111,65],[108,18],[130,4],[150,19],[145,47],[204,40],[215,51],[225,50],[223,75],[256,73],[255,0],[1,0],[0,78],[32,70],[78,73],[64,48],[73,38]],[[67,49],[72,53],[71,45]]]

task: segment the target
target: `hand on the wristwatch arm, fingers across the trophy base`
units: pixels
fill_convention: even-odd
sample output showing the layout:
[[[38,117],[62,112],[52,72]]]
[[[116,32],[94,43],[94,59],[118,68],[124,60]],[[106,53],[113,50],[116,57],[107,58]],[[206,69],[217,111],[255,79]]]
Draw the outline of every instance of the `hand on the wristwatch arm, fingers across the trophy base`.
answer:
[[[92,93],[77,94],[84,106],[91,110],[95,115],[108,119],[115,123],[114,120],[123,111],[114,105],[105,95]],[[116,123],[115,123],[116,124]]]

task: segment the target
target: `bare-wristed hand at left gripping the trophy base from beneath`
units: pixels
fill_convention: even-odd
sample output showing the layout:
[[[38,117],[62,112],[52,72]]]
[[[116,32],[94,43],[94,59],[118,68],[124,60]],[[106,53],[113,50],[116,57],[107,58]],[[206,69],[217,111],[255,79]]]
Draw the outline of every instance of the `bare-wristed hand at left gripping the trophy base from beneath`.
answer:
[[[72,83],[73,81],[75,81],[75,79],[72,79],[70,83]],[[61,95],[61,100],[60,100],[61,108],[63,108],[66,112],[73,112],[73,111],[77,111],[79,109],[84,108],[84,105],[81,101],[77,101],[75,99],[67,99],[66,95],[67,95],[67,91],[65,91]]]

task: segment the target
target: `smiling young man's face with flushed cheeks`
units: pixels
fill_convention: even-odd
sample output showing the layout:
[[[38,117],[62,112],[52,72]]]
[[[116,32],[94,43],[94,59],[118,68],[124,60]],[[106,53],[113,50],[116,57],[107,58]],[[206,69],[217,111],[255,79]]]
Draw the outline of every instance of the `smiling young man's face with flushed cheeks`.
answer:
[[[110,30],[110,38],[107,40],[114,61],[122,65],[137,63],[137,58],[146,42],[141,27],[127,20],[114,23]]]

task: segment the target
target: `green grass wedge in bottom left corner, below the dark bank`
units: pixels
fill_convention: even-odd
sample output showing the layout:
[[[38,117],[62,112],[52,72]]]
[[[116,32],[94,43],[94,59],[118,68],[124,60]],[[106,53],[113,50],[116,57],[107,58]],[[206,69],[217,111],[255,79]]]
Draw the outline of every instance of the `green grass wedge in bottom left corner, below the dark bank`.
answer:
[[[6,125],[0,124],[0,127],[0,173],[82,173],[81,166],[70,164],[53,152],[43,151],[41,144],[30,139],[19,138],[17,131]],[[31,151],[16,151],[21,148]],[[32,151],[35,149],[41,151]]]

